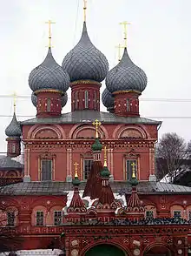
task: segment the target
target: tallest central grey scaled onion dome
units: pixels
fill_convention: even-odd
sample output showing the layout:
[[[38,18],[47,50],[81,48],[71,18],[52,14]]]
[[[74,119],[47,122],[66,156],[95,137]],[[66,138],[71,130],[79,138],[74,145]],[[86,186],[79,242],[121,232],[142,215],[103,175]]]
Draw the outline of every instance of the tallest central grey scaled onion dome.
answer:
[[[85,22],[80,41],[63,59],[63,70],[69,73],[71,82],[77,80],[102,82],[109,71],[108,60],[91,43]]]

